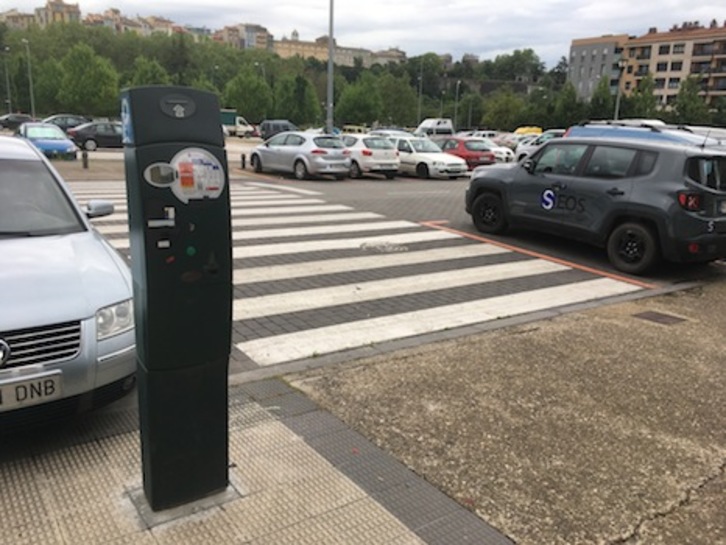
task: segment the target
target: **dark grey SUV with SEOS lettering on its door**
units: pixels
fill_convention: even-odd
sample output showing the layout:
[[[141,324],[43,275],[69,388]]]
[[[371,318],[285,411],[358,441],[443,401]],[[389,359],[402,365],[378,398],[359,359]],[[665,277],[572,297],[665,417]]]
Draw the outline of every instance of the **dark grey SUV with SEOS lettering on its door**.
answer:
[[[533,228],[607,249],[620,271],[726,257],[726,152],[645,139],[562,138],[481,167],[466,211],[483,233]]]

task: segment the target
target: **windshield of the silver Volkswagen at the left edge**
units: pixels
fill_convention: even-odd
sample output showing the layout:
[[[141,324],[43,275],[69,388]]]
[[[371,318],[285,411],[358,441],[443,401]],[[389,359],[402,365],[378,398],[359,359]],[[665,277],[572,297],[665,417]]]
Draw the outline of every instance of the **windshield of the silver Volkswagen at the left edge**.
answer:
[[[58,181],[40,161],[0,159],[0,236],[84,231]]]

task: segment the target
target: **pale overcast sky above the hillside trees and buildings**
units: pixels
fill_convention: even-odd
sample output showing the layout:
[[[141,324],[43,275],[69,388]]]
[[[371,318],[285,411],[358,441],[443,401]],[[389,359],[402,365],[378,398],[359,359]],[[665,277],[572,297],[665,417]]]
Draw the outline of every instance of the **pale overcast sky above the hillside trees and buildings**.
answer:
[[[82,16],[117,8],[121,13],[159,15],[184,26],[218,29],[259,24],[276,40],[297,30],[301,40],[328,33],[330,0],[66,0]],[[0,0],[0,11],[31,12],[45,0]],[[726,22],[724,0],[336,0],[337,43],[371,50],[398,47],[409,57],[433,52],[494,59],[531,48],[547,68],[569,54],[576,38],[603,34],[642,35],[684,21]]]

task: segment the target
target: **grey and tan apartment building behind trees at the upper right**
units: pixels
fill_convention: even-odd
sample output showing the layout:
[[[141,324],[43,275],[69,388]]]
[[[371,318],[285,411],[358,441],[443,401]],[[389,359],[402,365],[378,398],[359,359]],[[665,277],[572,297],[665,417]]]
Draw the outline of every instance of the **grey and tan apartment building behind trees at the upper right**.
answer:
[[[726,21],[708,27],[697,21],[659,32],[650,28],[642,36],[607,35],[573,40],[568,79],[579,98],[589,100],[600,78],[607,77],[615,94],[638,88],[651,75],[661,107],[669,107],[681,83],[696,77],[707,104],[726,97]]]

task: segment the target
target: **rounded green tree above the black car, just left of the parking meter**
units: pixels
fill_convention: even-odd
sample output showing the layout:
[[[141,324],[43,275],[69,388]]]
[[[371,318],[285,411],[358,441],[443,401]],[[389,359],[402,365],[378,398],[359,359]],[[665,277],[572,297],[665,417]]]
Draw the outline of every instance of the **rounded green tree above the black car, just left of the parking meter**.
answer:
[[[90,46],[78,44],[61,61],[58,101],[71,112],[87,115],[118,115],[119,77],[111,63]]]

